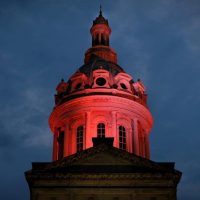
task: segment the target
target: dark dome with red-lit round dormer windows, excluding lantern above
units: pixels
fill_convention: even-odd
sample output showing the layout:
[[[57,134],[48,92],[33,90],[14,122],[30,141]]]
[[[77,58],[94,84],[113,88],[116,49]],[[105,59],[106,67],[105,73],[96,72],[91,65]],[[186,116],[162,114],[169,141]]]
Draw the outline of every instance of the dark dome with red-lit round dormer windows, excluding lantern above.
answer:
[[[68,81],[61,80],[57,86],[55,104],[59,106],[72,99],[97,94],[119,96],[147,106],[147,95],[142,82],[134,82],[132,76],[118,64],[95,54]]]

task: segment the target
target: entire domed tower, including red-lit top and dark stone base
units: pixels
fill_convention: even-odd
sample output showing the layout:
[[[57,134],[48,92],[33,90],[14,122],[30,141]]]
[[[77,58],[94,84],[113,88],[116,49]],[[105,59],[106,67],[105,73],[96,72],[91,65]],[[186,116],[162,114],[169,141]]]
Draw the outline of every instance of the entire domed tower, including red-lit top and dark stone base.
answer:
[[[117,64],[101,9],[90,33],[84,64],[56,87],[53,161],[25,172],[31,200],[175,200],[181,172],[150,160],[145,86]]]

